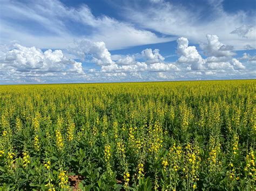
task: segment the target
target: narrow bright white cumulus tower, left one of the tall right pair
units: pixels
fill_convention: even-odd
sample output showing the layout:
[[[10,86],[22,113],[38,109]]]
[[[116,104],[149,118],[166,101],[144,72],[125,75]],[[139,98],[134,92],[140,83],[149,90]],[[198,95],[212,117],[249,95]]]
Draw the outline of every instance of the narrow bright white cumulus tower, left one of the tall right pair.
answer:
[[[179,63],[188,63],[192,70],[204,69],[204,59],[198,53],[196,46],[188,46],[188,39],[181,37],[177,40],[177,53],[180,55]]]

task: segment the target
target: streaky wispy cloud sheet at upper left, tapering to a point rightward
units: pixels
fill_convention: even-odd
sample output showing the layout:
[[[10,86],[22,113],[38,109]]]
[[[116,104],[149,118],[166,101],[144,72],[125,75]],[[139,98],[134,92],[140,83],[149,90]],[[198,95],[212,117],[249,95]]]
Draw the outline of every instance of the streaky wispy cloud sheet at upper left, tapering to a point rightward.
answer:
[[[18,40],[25,46],[66,48],[73,39],[86,36],[92,41],[104,41],[110,49],[120,49],[173,39],[105,15],[96,17],[85,4],[71,8],[57,0],[6,1],[0,11],[2,43]],[[32,30],[28,23],[37,27]]]

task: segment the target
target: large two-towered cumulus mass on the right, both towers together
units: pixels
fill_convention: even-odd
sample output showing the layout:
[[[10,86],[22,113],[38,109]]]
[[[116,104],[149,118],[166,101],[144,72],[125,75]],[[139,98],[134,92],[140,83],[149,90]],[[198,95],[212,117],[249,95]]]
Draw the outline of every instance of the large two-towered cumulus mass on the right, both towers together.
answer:
[[[241,70],[245,69],[242,63],[232,58],[235,55],[232,47],[220,43],[218,36],[207,34],[207,43],[200,47],[208,55],[203,59],[195,46],[188,46],[188,39],[181,37],[177,40],[177,53],[180,55],[177,62],[190,64],[187,70]]]

